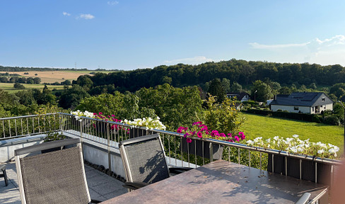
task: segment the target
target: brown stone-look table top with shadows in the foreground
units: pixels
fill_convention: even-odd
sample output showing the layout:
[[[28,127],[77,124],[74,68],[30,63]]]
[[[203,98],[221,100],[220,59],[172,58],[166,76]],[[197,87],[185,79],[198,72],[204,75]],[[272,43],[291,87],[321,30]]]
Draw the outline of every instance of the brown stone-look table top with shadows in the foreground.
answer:
[[[310,199],[327,186],[223,160],[172,176],[110,203],[295,203],[303,193]]]

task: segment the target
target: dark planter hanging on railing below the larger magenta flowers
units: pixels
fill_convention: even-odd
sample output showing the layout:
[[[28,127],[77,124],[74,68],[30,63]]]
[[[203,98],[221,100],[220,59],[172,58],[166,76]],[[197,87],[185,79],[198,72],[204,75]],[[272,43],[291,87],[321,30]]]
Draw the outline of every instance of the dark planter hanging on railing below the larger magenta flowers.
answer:
[[[204,142],[204,155],[202,154],[202,145]],[[195,152],[195,145],[197,145],[197,152]],[[202,140],[192,140],[192,142],[187,143],[186,138],[182,138],[182,152],[187,153],[189,149],[189,154],[196,154],[199,157],[204,157],[210,159],[210,145],[211,142],[206,142]],[[213,159],[221,159],[223,156],[223,147],[219,147],[212,143],[212,152],[214,153]]]

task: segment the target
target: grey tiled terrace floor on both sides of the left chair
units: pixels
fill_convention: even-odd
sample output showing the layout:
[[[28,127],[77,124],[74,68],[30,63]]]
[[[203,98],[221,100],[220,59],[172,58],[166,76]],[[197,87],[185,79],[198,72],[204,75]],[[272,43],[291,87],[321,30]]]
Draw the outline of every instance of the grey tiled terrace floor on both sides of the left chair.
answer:
[[[15,162],[6,164],[6,173],[8,186],[5,186],[4,178],[0,178],[0,203],[21,203]],[[127,193],[127,188],[122,187],[123,183],[112,176],[87,165],[85,173],[92,199],[103,201]]]

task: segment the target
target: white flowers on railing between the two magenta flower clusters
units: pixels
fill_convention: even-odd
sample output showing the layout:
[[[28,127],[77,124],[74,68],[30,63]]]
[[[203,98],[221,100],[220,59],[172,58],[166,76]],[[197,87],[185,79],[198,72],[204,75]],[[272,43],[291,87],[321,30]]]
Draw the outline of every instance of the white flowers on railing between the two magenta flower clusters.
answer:
[[[125,119],[123,121],[124,123],[131,125],[131,128],[137,128],[137,127],[145,127],[146,130],[165,130],[166,127],[163,125],[162,122],[160,122],[160,118],[136,118],[134,120],[127,120]]]

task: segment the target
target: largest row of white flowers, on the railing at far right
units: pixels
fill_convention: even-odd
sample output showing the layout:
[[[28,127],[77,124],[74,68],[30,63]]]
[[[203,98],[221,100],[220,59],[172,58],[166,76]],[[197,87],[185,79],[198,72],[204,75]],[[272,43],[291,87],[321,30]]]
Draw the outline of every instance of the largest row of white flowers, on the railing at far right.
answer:
[[[291,154],[305,154],[315,157],[334,159],[337,157],[339,147],[322,142],[310,142],[308,140],[300,140],[298,135],[292,137],[273,137],[262,140],[262,137],[256,137],[254,140],[247,140],[247,145],[251,147],[263,147],[265,149],[277,149],[286,151]]]

